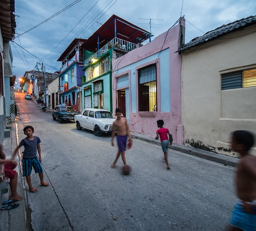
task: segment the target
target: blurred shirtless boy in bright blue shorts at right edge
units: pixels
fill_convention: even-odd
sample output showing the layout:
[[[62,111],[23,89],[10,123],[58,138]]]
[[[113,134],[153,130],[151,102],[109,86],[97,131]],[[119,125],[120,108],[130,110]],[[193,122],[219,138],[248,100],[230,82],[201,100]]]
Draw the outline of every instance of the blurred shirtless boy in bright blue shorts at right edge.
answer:
[[[253,135],[244,130],[234,131],[231,148],[241,156],[236,174],[238,203],[230,219],[228,231],[256,230],[256,156],[248,151],[253,146]]]

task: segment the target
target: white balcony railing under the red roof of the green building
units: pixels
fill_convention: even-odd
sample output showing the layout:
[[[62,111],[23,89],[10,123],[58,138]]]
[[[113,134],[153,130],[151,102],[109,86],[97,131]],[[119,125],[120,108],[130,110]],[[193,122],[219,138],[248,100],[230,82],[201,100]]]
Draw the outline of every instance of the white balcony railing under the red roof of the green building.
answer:
[[[118,47],[118,48],[123,49],[123,50],[131,51],[131,50],[135,49],[136,46],[137,45],[135,43],[131,43],[131,42],[128,42],[128,41],[125,41],[125,40],[122,40],[122,39],[118,39],[117,37],[115,37],[110,42],[108,42],[106,45],[101,47],[96,53],[94,53],[88,59],[86,59],[84,61],[84,64],[88,65],[91,62],[92,59],[99,58],[103,53],[105,53],[106,51],[108,51],[112,47]]]

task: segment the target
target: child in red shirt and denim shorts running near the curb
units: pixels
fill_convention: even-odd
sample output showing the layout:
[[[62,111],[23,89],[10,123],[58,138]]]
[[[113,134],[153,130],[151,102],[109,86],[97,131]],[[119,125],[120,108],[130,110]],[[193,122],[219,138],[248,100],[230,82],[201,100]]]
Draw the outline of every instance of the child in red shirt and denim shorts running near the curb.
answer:
[[[167,169],[170,169],[170,166],[168,164],[168,158],[167,158],[167,149],[169,146],[169,142],[170,142],[170,145],[172,145],[173,139],[172,139],[172,135],[169,132],[169,129],[163,127],[163,124],[164,124],[163,120],[157,121],[157,127],[159,127],[159,129],[157,129],[156,131],[155,139],[158,140],[160,136],[161,147],[163,150],[163,155],[165,156],[166,167]],[[169,139],[167,134],[169,135]]]

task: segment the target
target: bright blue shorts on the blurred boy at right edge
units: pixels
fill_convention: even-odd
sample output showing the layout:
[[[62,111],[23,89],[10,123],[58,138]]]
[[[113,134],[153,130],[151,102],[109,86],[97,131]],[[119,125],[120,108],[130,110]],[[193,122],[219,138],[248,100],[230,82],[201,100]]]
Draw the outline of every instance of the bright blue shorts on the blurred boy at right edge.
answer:
[[[237,203],[231,215],[230,225],[244,231],[256,230],[256,214],[244,212],[241,203]]]

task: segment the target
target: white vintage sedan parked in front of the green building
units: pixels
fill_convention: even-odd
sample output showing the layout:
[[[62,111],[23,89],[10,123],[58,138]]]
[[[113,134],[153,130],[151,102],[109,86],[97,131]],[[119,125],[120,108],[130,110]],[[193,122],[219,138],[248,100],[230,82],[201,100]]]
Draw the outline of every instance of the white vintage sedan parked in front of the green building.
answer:
[[[94,131],[95,136],[111,133],[115,119],[110,111],[97,108],[86,108],[81,114],[75,115],[76,129],[83,127]]]

